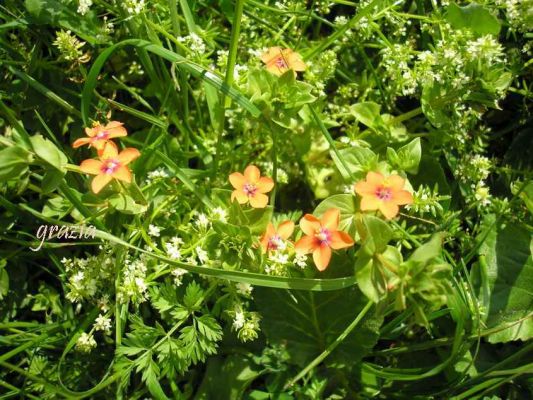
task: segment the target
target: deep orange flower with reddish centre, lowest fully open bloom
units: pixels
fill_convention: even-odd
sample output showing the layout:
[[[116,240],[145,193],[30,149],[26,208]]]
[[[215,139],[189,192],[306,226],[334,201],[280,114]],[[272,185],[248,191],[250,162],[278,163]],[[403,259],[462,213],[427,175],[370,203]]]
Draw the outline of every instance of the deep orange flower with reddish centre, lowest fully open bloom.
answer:
[[[353,246],[354,241],[346,232],[338,231],[340,211],[327,210],[322,219],[305,214],[300,220],[300,228],[305,236],[296,242],[296,251],[313,253],[313,261],[319,271],[324,271],[331,259],[331,249],[338,250]]]

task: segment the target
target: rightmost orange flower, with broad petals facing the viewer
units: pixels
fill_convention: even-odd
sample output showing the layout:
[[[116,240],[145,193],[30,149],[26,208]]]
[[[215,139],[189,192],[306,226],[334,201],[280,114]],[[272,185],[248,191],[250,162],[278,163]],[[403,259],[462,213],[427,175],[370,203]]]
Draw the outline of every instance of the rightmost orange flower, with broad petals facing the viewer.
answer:
[[[361,210],[379,210],[387,219],[394,218],[399,206],[411,204],[413,196],[403,190],[405,179],[399,175],[385,178],[379,172],[369,172],[366,180],[355,184],[355,191],[361,198]]]

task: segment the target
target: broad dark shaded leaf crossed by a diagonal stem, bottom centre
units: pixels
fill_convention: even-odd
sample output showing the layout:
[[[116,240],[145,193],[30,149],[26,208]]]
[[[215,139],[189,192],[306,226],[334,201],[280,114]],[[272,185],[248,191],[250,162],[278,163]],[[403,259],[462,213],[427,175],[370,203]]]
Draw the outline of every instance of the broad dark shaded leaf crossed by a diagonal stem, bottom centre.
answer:
[[[254,299],[269,344],[286,346],[291,361],[300,366],[335,341],[367,303],[355,287],[331,293],[256,288]],[[382,321],[367,314],[327,360],[357,363],[376,344]]]

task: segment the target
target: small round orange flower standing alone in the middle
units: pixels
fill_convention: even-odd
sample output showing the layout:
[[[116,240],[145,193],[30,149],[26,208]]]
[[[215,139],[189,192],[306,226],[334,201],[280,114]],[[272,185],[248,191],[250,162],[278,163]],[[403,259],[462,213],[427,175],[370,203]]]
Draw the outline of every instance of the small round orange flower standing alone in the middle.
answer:
[[[259,168],[249,165],[244,170],[244,175],[234,172],[229,176],[229,181],[235,190],[231,193],[231,201],[237,199],[239,204],[250,202],[253,208],[265,208],[268,204],[268,193],[274,187],[274,181],[262,177]]]

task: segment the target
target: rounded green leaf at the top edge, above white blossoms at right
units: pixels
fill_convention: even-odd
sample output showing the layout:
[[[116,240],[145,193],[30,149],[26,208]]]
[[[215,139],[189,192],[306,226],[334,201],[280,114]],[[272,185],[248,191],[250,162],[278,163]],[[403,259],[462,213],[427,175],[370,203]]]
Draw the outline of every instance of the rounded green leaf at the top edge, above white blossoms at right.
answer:
[[[452,3],[448,6],[446,20],[455,29],[469,29],[478,35],[497,35],[501,24],[489,10],[477,3],[459,7]]]

